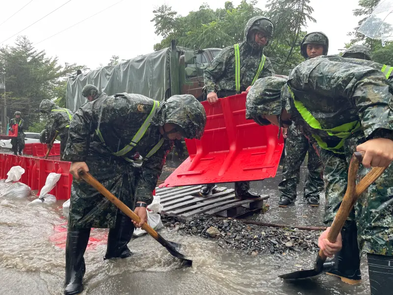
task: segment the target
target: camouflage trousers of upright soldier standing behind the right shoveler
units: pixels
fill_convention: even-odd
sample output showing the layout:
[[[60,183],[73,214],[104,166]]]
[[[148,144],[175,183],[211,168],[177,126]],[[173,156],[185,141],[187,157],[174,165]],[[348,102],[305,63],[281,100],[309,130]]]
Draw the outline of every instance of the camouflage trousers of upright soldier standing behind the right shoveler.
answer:
[[[303,196],[305,198],[316,197],[319,199],[319,193],[323,190],[321,160],[302,131],[292,124],[287,132],[282,181],[279,183],[281,196],[287,197],[291,201],[296,199],[296,187],[300,181],[300,166],[307,152],[309,153],[308,172]]]

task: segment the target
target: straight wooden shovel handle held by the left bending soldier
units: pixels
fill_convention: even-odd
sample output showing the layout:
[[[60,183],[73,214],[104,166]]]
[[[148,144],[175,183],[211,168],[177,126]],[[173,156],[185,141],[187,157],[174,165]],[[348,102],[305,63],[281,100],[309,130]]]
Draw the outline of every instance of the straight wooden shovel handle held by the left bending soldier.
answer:
[[[88,184],[90,184],[92,187],[94,187],[100,194],[102,194],[105,198],[107,198],[109,201],[111,201],[117,208],[119,208],[124,214],[126,214],[128,217],[130,217],[132,220],[135,222],[140,223],[140,218],[137,214],[134,213],[133,210],[131,210],[129,207],[127,207],[123,202],[121,202],[119,199],[117,199],[115,196],[111,194],[109,190],[107,190],[100,182],[98,182],[97,179],[91,176],[90,173],[85,172],[83,169],[80,169],[78,171],[78,174],[84,181],[86,181]],[[142,225],[142,230],[146,231],[150,236],[153,238],[157,239],[158,234],[155,230],[151,228],[145,222]]]

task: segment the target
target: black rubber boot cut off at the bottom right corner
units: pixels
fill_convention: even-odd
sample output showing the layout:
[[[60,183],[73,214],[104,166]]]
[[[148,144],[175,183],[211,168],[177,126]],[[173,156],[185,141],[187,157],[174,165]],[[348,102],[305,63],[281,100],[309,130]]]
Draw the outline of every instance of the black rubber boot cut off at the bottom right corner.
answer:
[[[371,295],[392,294],[393,257],[367,253]]]

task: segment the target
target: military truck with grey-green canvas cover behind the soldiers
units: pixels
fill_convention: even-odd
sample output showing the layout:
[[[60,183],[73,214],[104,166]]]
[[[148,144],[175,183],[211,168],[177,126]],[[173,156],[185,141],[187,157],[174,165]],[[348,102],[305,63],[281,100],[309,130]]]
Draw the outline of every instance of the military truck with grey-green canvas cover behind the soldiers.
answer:
[[[203,69],[220,51],[178,47],[172,40],[171,47],[160,51],[70,77],[66,106],[75,112],[86,102],[82,96],[86,84],[108,95],[138,93],[162,101],[175,94],[192,94],[202,101]]]

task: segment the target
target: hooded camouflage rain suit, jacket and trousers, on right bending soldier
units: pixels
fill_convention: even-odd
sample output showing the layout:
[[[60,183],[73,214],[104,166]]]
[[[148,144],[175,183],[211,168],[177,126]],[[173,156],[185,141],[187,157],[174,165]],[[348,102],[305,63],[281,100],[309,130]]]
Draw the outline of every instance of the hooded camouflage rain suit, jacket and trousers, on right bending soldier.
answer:
[[[280,114],[278,110],[286,105],[291,118],[302,125],[303,131],[314,143],[324,166],[324,221],[327,225],[332,223],[345,194],[349,161],[356,147],[368,139],[393,139],[393,90],[389,81],[380,69],[358,65],[358,61],[339,57],[309,59],[298,65],[289,76],[287,85],[293,95],[288,91],[287,85],[284,85],[280,101],[277,99],[277,89],[280,89],[285,81],[276,78],[274,82],[266,83],[269,81],[260,79],[247,99],[249,118],[256,114]],[[370,61],[362,62],[372,64]],[[271,95],[266,95],[263,99],[260,94],[265,93]],[[316,144],[316,136],[327,143],[328,147],[336,147],[339,140],[327,131],[313,128],[306,123],[295,106],[295,100],[302,103],[323,129],[351,122],[358,122],[359,128],[351,132],[336,152],[321,148]],[[359,177],[364,177],[368,171],[361,167]],[[360,249],[363,248],[368,253],[392,256],[393,165],[368,188],[355,205],[355,212],[356,215],[350,215],[348,221],[357,221]],[[344,226],[350,224],[348,221]]]

